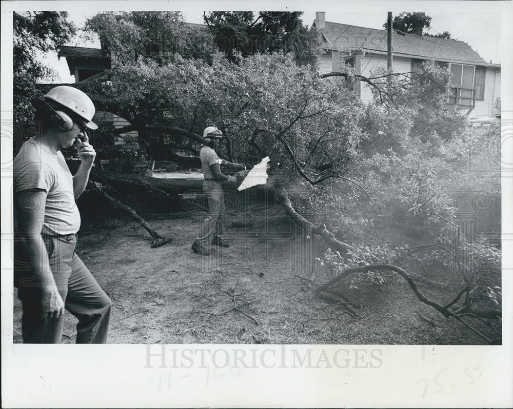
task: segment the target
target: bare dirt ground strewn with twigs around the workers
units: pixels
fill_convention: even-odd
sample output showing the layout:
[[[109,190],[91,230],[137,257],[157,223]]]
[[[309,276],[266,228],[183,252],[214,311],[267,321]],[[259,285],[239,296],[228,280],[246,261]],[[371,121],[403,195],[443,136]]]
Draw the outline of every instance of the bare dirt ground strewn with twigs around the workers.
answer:
[[[173,238],[156,249],[124,215],[83,227],[77,254],[113,302],[109,343],[485,343],[421,303],[403,282],[346,289],[362,305],[358,317],[319,299],[298,276],[313,273],[319,284],[331,278],[315,262],[325,248],[296,231],[278,209],[229,212],[223,237],[231,247],[194,254],[191,243],[205,216],[200,210],[147,217]],[[452,294],[422,290],[441,303]],[[22,342],[21,315],[15,292],[14,342]],[[64,343],[75,341],[75,325],[66,312]]]

